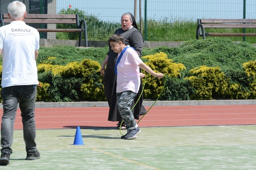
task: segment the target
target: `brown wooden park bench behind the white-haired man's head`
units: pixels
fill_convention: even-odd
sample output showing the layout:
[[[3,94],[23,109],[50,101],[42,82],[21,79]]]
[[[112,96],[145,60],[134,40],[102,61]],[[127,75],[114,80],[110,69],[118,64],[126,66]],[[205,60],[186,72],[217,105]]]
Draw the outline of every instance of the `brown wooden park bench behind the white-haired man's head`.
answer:
[[[0,14],[0,27],[4,26],[4,23],[11,23],[11,19],[9,19],[7,14]],[[70,33],[79,33],[79,47],[82,44],[82,33],[84,32],[85,39],[85,47],[88,47],[87,42],[87,25],[86,21],[79,20],[78,14],[27,14],[24,19],[24,22],[29,24],[75,24],[75,29],[73,28],[65,28],[65,29],[57,29],[56,26],[54,28],[36,28],[38,32],[70,32]]]

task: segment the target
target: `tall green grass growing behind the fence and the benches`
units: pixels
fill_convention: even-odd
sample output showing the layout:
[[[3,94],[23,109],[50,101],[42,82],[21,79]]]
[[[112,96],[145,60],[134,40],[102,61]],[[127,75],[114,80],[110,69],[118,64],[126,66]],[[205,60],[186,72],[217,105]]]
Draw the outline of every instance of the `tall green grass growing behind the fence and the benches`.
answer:
[[[145,37],[144,21],[142,23],[142,34]],[[114,31],[120,28],[120,23],[113,22],[88,22],[87,34],[88,40],[107,41]],[[139,23],[138,23],[139,27]],[[147,41],[187,41],[196,38],[197,21],[183,19],[147,20]],[[140,30],[140,28],[139,28]],[[206,32],[213,33],[242,33],[243,29],[205,29]],[[246,29],[247,33],[255,33],[255,29]],[[72,38],[72,36],[76,36]],[[82,36],[84,37],[84,35]],[[201,37],[200,37],[201,38]],[[225,38],[225,37],[207,37],[207,38]],[[233,41],[243,41],[243,37],[228,37]],[[78,34],[57,33],[57,39],[78,39]],[[256,43],[256,37],[246,37],[249,43]]]

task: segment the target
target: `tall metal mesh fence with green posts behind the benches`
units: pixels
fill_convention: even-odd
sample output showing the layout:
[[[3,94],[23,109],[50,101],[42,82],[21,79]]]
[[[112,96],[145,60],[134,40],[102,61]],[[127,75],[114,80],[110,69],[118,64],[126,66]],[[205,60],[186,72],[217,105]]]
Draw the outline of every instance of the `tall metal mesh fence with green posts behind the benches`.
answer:
[[[0,12],[7,12],[0,0]],[[254,19],[255,0],[21,0],[29,13],[80,12],[87,22],[88,40],[107,40],[120,28],[123,13],[131,12],[145,40],[184,41],[196,38],[197,19]],[[4,5],[5,4],[5,5]],[[5,7],[5,8],[4,8]],[[135,9],[135,10],[134,10]],[[141,9],[141,13],[140,13]],[[83,17],[83,18],[82,18]],[[145,20],[146,18],[146,20]],[[145,22],[146,21],[146,22]],[[238,30],[239,31],[239,30]],[[45,36],[49,36],[46,34]],[[72,36],[69,34],[69,36]],[[63,38],[57,34],[57,38]],[[47,37],[43,37],[47,38]],[[68,37],[72,39],[72,37]],[[242,37],[228,37],[242,41]],[[255,43],[254,37],[246,40]]]

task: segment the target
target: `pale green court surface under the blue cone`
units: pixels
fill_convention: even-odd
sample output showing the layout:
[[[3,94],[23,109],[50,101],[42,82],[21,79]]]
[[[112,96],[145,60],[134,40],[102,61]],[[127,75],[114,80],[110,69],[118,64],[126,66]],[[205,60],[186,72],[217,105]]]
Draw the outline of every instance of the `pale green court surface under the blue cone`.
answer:
[[[84,145],[73,145],[76,129],[37,130],[41,158],[25,160],[23,131],[14,131],[5,169],[255,169],[255,125],[140,128],[137,139],[116,129],[81,129]],[[125,132],[123,132],[125,133]],[[0,167],[1,169],[3,167]]]

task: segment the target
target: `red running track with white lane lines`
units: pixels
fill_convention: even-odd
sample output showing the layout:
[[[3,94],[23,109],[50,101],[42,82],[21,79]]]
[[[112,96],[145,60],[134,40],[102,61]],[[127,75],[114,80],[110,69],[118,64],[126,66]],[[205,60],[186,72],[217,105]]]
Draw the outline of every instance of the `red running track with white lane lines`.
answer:
[[[108,121],[108,111],[108,107],[36,108],[36,128],[116,127],[117,122]],[[140,127],[249,124],[256,124],[256,105],[154,106],[139,122]],[[22,129],[19,109],[14,129]]]

